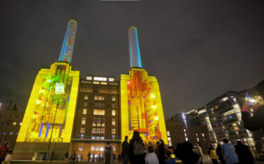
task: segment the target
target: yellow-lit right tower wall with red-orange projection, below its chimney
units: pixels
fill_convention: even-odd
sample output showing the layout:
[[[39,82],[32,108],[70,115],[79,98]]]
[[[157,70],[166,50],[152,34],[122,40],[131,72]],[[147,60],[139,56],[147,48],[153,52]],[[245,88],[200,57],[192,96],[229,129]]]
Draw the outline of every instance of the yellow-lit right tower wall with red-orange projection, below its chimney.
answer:
[[[147,71],[132,68],[120,78],[122,139],[139,130],[145,142],[168,144],[158,81]]]

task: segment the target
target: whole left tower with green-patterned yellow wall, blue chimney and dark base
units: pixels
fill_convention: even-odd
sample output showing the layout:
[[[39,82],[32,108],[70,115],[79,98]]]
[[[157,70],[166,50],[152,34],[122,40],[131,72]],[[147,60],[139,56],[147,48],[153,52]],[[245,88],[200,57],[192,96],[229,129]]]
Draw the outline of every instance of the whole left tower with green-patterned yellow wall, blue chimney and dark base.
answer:
[[[36,159],[38,153],[51,150],[64,154],[70,146],[80,81],[80,72],[73,71],[70,65],[76,28],[77,22],[70,20],[58,62],[37,74],[18,133],[14,158],[32,159],[33,156]]]

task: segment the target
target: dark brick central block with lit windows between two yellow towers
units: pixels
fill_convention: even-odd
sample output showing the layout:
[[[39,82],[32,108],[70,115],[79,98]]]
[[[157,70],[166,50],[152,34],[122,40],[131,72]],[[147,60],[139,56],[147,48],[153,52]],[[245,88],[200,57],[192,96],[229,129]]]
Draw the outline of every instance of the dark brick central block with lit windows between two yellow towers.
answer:
[[[107,142],[116,157],[121,153],[119,89],[111,76],[82,78],[70,146],[79,159],[87,160],[89,151],[97,158]]]

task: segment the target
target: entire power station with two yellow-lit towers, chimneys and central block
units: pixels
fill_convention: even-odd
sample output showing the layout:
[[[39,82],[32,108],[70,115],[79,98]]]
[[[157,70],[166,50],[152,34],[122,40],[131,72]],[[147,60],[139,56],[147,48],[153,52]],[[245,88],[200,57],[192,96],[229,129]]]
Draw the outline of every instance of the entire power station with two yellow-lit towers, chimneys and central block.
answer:
[[[70,20],[58,62],[41,69],[15,143],[13,159],[55,159],[76,151],[87,159],[103,153],[106,143],[115,155],[121,142],[138,130],[145,143],[168,144],[157,79],[142,68],[137,28],[130,27],[130,71],[120,81],[113,76],[80,77],[72,69],[77,22]]]

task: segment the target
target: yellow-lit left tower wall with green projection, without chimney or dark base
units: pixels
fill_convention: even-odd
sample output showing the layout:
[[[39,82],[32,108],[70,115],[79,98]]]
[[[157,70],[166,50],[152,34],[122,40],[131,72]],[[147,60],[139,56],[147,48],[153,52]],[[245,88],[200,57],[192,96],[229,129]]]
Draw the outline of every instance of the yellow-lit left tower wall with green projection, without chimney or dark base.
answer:
[[[80,80],[80,71],[71,69],[55,62],[39,71],[17,142],[70,142]]]

